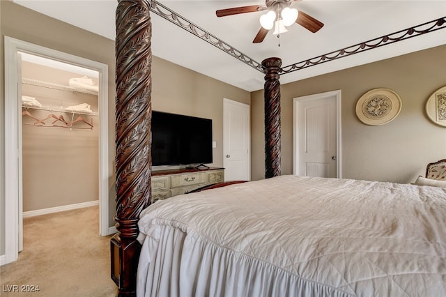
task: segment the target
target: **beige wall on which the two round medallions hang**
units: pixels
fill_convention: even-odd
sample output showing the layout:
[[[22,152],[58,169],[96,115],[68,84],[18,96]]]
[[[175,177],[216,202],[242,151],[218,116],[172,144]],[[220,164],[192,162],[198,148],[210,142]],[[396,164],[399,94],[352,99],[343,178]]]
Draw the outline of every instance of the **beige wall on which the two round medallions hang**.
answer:
[[[446,128],[424,112],[431,93],[445,85],[446,45],[282,85],[282,174],[293,172],[293,98],[341,90],[342,177],[415,181],[428,162],[446,158]],[[364,125],[355,115],[355,104],[376,88],[398,93],[401,113],[386,125]],[[251,107],[251,174],[259,179],[265,164],[263,91],[252,93]]]

